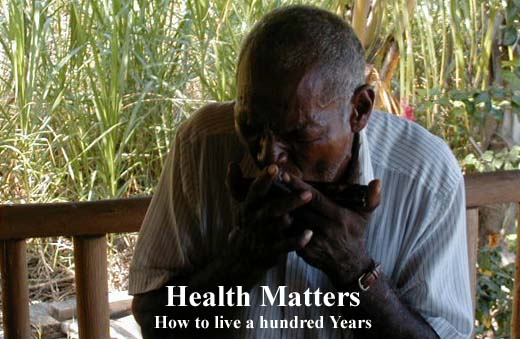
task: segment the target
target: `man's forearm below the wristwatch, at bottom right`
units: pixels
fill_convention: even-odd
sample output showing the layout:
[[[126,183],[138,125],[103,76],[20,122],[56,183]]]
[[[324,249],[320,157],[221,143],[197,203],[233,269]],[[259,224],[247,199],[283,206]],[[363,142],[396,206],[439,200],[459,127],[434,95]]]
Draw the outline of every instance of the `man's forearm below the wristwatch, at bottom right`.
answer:
[[[371,329],[355,332],[357,339],[439,339],[430,325],[399,299],[384,277],[368,291],[360,291],[360,300],[359,307],[343,309],[346,316],[372,321]]]

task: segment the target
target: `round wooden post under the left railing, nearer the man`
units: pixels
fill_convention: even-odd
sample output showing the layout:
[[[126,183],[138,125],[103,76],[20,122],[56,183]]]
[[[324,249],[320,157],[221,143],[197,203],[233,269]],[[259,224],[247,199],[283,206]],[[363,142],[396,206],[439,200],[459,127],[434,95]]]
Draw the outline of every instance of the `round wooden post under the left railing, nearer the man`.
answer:
[[[109,339],[107,241],[105,235],[74,237],[80,339]]]

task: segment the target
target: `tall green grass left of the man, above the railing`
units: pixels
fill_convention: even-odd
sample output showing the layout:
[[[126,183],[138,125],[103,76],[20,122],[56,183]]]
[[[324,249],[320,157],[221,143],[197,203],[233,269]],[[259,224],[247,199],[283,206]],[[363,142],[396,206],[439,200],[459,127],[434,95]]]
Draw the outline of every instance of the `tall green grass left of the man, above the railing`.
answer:
[[[243,35],[289,3],[4,0],[4,202],[149,194],[178,124],[234,97]]]

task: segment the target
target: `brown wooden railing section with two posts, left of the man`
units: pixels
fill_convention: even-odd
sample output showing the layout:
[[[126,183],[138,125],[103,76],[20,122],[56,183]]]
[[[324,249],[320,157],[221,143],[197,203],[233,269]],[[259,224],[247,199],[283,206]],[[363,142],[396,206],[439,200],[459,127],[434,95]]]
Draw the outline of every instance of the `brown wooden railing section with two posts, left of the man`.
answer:
[[[109,338],[106,234],[137,232],[150,198],[0,206],[0,266],[6,339],[31,338],[27,238],[72,236],[82,339]]]

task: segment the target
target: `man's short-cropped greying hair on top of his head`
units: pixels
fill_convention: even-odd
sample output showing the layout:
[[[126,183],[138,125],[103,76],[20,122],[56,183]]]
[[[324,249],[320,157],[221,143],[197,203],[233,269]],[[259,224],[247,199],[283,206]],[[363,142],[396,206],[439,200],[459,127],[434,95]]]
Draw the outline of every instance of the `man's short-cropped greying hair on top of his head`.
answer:
[[[364,51],[354,30],[339,16],[316,7],[289,6],[267,14],[246,37],[239,64],[246,52],[272,74],[317,68],[324,76],[325,100],[348,100],[365,82]]]

